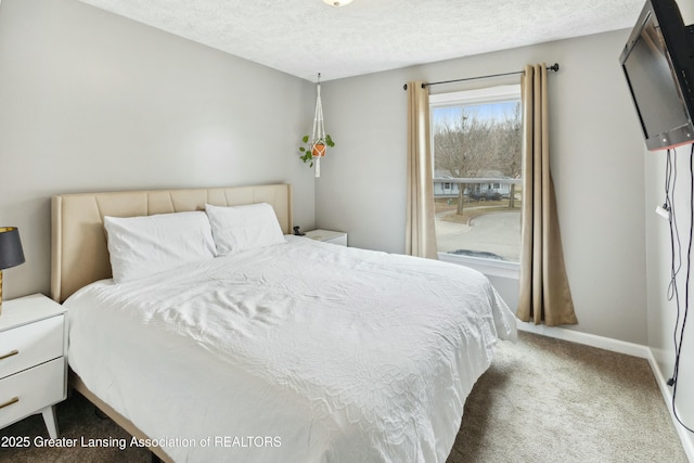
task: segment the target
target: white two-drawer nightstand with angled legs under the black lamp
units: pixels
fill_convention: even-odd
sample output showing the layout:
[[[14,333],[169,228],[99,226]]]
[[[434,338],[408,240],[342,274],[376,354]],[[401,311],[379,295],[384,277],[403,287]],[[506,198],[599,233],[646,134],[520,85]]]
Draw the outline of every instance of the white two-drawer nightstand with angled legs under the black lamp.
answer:
[[[0,428],[41,413],[57,438],[55,403],[67,395],[67,312],[42,294],[2,303]]]

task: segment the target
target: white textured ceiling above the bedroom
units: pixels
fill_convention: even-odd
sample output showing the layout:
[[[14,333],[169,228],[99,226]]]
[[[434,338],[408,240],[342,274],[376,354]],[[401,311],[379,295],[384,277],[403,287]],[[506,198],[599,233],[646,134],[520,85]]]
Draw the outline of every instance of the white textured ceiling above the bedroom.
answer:
[[[314,81],[632,27],[644,0],[80,0]]]

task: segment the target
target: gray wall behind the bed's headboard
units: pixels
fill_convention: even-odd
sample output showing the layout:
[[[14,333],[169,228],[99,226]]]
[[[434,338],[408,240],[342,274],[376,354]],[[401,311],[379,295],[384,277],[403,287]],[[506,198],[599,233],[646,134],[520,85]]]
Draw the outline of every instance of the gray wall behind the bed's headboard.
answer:
[[[0,76],[5,298],[49,291],[55,193],[290,182],[313,224],[310,82],[75,0],[2,1]]]

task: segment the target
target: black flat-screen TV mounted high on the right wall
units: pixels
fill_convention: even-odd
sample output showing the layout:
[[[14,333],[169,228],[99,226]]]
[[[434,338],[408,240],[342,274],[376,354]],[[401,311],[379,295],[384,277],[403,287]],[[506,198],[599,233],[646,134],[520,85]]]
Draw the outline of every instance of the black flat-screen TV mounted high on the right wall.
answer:
[[[694,143],[694,25],[676,0],[646,0],[619,62],[646,147]]]

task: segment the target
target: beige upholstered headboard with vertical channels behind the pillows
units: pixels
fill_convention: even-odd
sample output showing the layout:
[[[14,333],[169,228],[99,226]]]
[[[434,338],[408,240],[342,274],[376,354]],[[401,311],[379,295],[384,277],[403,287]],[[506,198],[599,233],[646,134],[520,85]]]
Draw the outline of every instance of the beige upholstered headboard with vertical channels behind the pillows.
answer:
[[[292,230],[292,185],[59,194],[52,198],[51,297],[111,278],[104,216],[134,217],[204,210],[205,204],[269,203],[284,233]]]

